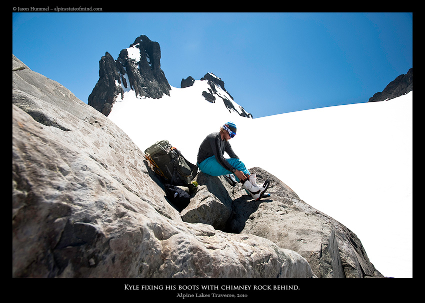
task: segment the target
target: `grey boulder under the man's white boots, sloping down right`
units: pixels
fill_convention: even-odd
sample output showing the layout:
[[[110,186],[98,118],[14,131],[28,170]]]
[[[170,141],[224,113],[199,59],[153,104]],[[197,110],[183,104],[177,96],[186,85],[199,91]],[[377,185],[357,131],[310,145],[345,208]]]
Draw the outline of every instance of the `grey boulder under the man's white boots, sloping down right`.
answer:
[[[250,169],[257,183],[270,180],[270,198],[259,201],[244,195],[233,203],[229,232],[266,238],[297,252],[317,278],[383,278],[369,262],[356,235],[314,209],[287,185],[261,168]]]

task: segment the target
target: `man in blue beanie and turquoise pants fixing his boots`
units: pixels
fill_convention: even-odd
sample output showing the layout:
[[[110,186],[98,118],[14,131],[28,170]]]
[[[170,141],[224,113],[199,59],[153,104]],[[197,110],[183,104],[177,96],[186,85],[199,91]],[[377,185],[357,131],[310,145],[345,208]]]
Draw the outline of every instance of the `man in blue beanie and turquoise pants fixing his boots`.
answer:
[[[269,181],[266,180],[262,186],[256,184],[255,174],[249,173],[228,142],[235,135],[236,125],[232,122],[220,127],[219,132],[207,135],[199,146],[196,164],[201,172],[210,176],[224,176],[233,186],[236,182],[242,183],[242,188],[257,201],[264,195]],[[224,152],[230,159],[224,158]]]

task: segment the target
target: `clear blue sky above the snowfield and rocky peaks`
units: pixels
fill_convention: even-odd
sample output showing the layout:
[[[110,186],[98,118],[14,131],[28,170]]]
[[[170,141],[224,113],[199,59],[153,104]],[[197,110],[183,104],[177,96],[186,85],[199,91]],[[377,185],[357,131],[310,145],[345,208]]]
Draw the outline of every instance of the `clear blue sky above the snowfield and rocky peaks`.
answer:
[[[413,67],[412,13],[13,13],[12,52],[87,102],[143,34],[169,84],[212,72],[254,118],[367,102]]]

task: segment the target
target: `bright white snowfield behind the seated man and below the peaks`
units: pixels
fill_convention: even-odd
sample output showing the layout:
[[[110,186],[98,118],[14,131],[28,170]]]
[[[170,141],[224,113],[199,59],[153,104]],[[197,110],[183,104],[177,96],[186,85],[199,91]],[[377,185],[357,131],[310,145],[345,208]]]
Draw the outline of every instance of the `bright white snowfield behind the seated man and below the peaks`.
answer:
[[[108,118],[141,151],[167,139],[192,163],[207,134],[234,122],[230,143],[246,167],[267,170],[349,228],[382,275],[412,278],[413,92],[249,119],[230,113],[220,99],[207,102],[201,95],[207,87],[195,81],[161,99],[127,90]]]

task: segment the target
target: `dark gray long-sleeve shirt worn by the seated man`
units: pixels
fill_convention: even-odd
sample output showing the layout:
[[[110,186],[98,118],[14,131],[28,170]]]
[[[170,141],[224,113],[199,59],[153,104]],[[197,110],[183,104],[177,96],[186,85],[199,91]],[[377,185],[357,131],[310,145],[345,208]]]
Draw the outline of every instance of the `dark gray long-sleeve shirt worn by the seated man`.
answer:
[[[206,158],[211,156],[215,156],[215,159],[218,163],[224,167],[225,169],[231,171],[233,166],[231,166],[226,159],[224,159],[224,152],[229,155],[230,158],[237,158],[236,154],[231,149],[230,143],[225,140],[221,140],[221,136],[219,132],[211,133],[206,136],[206,138],[202,141],[199,146],[199,150],[197,153],[197,163],[201,163]]]

